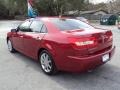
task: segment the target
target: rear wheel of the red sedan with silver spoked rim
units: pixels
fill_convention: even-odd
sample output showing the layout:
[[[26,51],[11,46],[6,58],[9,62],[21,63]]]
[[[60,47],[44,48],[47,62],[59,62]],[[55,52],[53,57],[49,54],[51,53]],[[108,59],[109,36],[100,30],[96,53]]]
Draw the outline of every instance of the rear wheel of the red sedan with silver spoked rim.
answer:
[[[43,50],[39,55],[39,62],[43,72],[47,75],[53,75],[57,73],[57,69],[51,54]]]

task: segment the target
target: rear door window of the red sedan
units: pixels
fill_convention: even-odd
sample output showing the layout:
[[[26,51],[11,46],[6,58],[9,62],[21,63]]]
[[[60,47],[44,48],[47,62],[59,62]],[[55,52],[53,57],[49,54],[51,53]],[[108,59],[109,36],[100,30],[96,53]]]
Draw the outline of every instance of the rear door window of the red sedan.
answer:
[[[33,32],[40,32],[42,27],[43,27],[43,23],[42,22],[40,22],[40,21],[33,21],[31,26],[30,26],[30,29]]]

